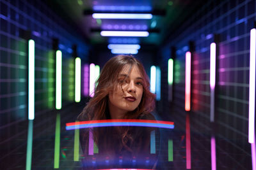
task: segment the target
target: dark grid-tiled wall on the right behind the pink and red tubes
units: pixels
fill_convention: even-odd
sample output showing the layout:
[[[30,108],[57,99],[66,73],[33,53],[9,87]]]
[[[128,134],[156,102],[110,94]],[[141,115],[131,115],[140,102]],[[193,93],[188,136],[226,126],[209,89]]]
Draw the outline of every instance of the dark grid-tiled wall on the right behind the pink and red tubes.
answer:
[[[177,48],[174,101],[171,108],[170,103],[164,101],[163,108],[170,108],[170,113],[165,116],[185,131],[185,53],[189,50],[189,41],[195,42],[190,116],[192,167],[198,167],[196,160],[202,160],[204,167],[211,168],[210,45],[214,34],[220,34],[215,121],[217,169],[252,169],[248,143],[248,87],[250,30],[256,18],[255,5],[255,1],[249,0],[209,1],[191,15],[179,32],[174,32],[172,40],[162,50],[164,57],[160,65],[166,67],[170,47]],[[167,82],[166,72],[167,69],[163,69],[162,77]],[[162,89],[167,89],[167,83],[162,82],[162,85]],[[167,95],[163,94],[164,100]]]

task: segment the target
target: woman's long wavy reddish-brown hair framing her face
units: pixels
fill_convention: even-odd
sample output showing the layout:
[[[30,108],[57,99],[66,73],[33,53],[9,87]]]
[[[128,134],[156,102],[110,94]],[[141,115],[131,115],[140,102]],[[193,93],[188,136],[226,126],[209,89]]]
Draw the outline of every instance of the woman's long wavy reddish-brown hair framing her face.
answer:
[[[143,96],[141,97],[138,108],[134,111],[129,111],[124,118],[138,118],[141,114],[147,115],[154,110],[155,95],[150,92],[149,79],[141,62],[132,55],[117,55],[108,60],[100,72],[99,79],[95,83],[97,84],[95,94],[84,107],[83,112],[78,116],[79,121],[110,118],[108,111],[108,95],[110,92],[113,92],[113,89],[118,83],[118,74],[127,66],[130,66],[130,71],[133,66],[137,66],[140,70],[143,78]],[[132,141],[132,137],[129,136],[127,132],[127,129],[122,132],[122,143],[125,148],[127,148],[127,138]],[[99,132],[93,132],[93,136],[95,143],[97,143]]]

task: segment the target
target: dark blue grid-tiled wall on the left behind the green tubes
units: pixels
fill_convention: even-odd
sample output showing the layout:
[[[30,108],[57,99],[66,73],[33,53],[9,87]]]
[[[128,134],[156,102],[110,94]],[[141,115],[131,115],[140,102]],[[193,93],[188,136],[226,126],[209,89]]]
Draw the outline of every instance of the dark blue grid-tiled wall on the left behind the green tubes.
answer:
[[[77,53],[82,59],[86,60],[88,55],[88,46],[81,36],[42,1],[0,1],[0,162],[5,162],[4,167],[9,168],[24,167],[26,162],[28,53],[27,42],[20,37],[20,29],[30,30],[31,38],[35,41],[36,139],[40,135],[44,136],[44,132],[54,131],[54,118],[51,116],[51,110],[55,106],[52,38],[59,39],[63,55],[65,71],[62,93],[67,94],[63,97],[63,106],[74,102],[74,80],[68,80],[68,76],[74,75],[72,45],[78,46]],[[47,121],[37,121],[37,118]]]

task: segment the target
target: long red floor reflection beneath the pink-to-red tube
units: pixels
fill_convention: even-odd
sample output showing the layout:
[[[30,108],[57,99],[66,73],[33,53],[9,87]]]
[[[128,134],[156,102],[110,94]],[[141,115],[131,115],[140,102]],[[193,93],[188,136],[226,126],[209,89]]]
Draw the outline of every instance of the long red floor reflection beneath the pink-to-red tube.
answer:
[[[189,114],[186,115],[186,167],[191,169],[191,141],[190,141],[190,120]]]

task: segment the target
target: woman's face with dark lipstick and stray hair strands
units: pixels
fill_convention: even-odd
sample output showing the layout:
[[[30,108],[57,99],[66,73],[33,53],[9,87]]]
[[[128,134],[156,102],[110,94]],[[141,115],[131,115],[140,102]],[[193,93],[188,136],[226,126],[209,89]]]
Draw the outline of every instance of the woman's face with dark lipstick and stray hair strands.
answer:
[[[124,67],[118,74],[118,85],[109,94],[109,109],[118,113],[135,110],[143,94],[143,78],[137,66]],[[123,90],[122,90],[123,89]]]

